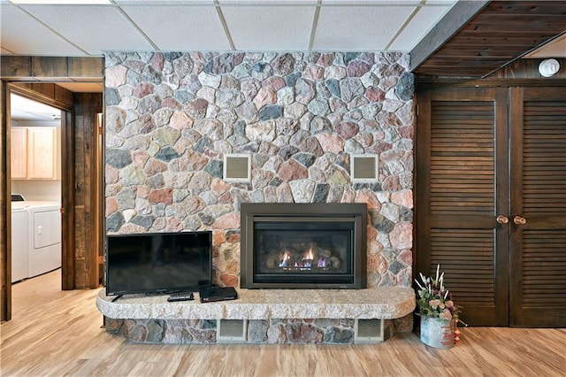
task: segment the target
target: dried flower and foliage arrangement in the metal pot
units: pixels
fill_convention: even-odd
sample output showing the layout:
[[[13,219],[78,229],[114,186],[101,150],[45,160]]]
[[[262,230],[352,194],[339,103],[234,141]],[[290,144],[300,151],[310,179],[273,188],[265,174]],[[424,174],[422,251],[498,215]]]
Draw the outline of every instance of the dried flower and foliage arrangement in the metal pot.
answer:
[[[417,305],[420,309],[421,316],[430,316],[440,319],[452,320],[458,319],[458,315],[462,312],[462,306],[454,304],[452,295],[444,287],[444,273],[440,273],[440,265],[436,266],[436,277],[425,278],[419,273],[421,281],[415,282],[418,286]]]

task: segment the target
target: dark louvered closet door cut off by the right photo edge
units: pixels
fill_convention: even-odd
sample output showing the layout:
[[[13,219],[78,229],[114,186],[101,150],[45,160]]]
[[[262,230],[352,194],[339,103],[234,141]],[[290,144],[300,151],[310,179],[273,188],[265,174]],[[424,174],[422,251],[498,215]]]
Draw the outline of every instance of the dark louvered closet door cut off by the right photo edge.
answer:
[[[511,98],[510,325],[566,327],[566,88]]]

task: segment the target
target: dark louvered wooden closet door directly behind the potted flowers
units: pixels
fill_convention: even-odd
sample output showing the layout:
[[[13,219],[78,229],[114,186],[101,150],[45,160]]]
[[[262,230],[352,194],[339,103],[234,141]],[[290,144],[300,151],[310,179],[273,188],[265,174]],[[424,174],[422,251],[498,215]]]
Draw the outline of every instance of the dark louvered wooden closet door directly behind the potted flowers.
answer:
[[[417,101],[415,275],[440,264],[464,321],[508,326],[509,224],[496,221],[509,214],[507,89],[424,89]]]

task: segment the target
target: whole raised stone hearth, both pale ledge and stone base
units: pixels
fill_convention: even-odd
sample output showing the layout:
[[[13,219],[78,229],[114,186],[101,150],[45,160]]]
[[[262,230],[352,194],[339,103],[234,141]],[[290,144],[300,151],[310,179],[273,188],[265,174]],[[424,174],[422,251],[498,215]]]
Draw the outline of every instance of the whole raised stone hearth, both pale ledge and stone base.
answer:
[[[132,295],[96,305],[106,331],[134,342],[383,342],[412,329],[413,289],[238,289],[233,301],[168,303]]]

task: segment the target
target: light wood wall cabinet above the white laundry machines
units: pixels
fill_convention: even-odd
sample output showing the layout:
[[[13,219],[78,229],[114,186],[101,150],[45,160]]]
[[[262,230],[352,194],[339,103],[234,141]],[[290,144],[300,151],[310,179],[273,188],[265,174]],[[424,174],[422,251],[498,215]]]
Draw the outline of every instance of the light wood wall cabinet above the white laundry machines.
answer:
[[[11,128],[11,179],[57,179],[57,128]]]

